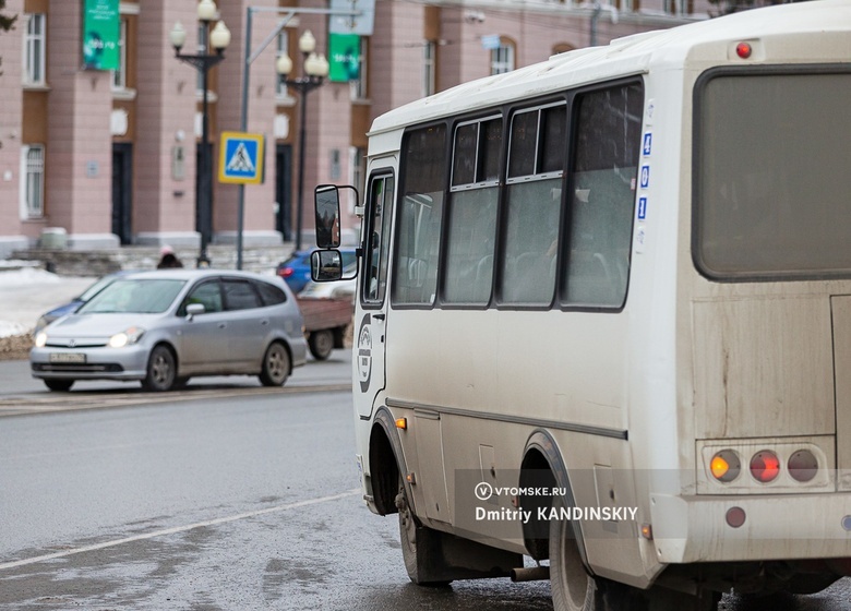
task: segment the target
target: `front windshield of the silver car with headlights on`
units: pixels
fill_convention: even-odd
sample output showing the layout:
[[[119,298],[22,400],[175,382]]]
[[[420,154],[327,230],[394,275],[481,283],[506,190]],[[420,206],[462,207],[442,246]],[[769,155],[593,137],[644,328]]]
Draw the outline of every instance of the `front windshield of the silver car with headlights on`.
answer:
[[[127,279],[116,280],[84,303],[79,314],[165,312],[175,301],[185,280]]]

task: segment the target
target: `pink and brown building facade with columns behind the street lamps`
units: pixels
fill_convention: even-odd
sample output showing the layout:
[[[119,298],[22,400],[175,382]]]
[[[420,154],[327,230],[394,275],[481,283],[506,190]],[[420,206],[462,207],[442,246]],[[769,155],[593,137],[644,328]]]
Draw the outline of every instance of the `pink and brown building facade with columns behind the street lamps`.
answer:
[[[376,116],[553,53],[706,19],[710,7],[705,0],[602,5],[376,0],[372,34],[359,40],[353,80],[325,82],[302,96],[280,82],[276,59],[289,55],[290,77],[300,76],[298,44],[307,29],[316,50],[328,55],[329,17],[315,12],[328,10],[328,3],[220,0],[218,17],[231,39],[206,87],[213,160],[206,204],[206,181],[199,171],[202,80],[199,70],[176,59],[169,41],[180,22],[188,32],[183,53],[212,52],[197,29],[195,2],[121,0],[117,68],[94,70],[82,51],[91,1],[7,2],[5,14],[19,17],[13,29],[0,32],[0,257],[39,245],[190,247],[205,230],[213,243],[235,243],[240,226],[247,245],[280,244],[293,241],[299,200],[303,244],[310,248],[313,187],[362,184],[365,134]],[[251,56],[256,57],[249,63]],[[240,131],[243,97],[247,131],[265,136],[265,171],[262,183],[240,188],[216,177],[219,136]],[[357,223],[350,214],[344,224],[349,239]]]

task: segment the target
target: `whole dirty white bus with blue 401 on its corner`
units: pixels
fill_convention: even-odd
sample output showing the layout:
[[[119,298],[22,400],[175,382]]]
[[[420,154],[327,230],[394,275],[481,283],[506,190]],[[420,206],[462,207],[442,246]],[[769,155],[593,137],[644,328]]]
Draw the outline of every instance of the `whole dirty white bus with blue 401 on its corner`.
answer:
[[[389,111],[362,211],[357,462],[413,582],[622,611],[851,574],[850,2]]]

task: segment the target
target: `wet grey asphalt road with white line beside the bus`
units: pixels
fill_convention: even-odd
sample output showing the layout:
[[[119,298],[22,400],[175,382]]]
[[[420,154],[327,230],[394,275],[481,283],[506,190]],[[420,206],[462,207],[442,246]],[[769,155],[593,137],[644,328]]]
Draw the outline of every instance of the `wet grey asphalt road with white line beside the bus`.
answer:
[[[165,397],[7,387],[20,364],[0,363],[0,408],[22,410],[0,418],[4,611],[552,610],[546,582],[408,582],[395,518],[360,501],[350,393],[321,390],[348,380],[347,352],[274,392],[211,379]],[[815,597],[721,603],[849,608],[848,579]]]

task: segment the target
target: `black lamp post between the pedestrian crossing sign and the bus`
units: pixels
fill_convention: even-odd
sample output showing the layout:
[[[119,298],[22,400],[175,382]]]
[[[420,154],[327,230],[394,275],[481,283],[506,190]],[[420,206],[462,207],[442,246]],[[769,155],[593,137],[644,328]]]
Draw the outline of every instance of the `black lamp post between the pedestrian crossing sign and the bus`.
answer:
[[[316,39],[310,29],[299,38],[299,51],[304,58],[302,76],[289,79],[292,72],[292,60],[287,53],[280,56],[275,63],[275,69],[286,85],[301,96],[301,111],[299,112],[299,179],[298,196],[296,200],[296,251],[301,250],[301,227],[304,207],[304,125],[308,115],[308,94],[320,87],[328,75],[328,61],[324,55],[316,55]]]

